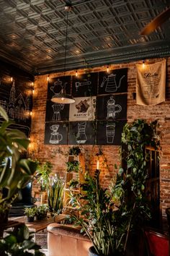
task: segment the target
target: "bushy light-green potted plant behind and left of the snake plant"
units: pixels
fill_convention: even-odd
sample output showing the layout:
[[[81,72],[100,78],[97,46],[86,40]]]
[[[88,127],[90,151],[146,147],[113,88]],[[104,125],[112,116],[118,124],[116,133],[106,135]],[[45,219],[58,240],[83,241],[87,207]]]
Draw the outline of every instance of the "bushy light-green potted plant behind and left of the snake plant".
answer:
[[[51,173],[52,164],[50,161],[39,163],[37,166],[37,183],[40,184],[41,190],[45,190],[48,184],[48,179]]]

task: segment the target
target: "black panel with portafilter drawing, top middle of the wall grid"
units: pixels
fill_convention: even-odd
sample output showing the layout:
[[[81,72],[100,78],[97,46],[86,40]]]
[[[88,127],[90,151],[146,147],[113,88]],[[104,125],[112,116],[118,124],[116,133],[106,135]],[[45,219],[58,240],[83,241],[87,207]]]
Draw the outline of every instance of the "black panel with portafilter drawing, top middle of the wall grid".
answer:
[[[73,97],[97,95],[97,84],[98,72],[73,76],[72,95]]]

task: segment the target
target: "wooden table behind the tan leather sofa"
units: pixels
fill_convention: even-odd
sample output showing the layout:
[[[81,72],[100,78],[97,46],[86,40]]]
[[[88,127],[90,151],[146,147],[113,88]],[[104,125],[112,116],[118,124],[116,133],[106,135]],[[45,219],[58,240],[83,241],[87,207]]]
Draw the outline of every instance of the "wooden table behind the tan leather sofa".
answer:
[[[15,221],[17,223],[24,223],[30,231],[35,233],[35,240],[36,240],[37,232],[47,229],[47,226],[50,223],[60,223],[65,218],[66,218],[65,214],[59,214],[59,215],[55,216],[55,218],[49,217],[49,218],[45,218],[42,221],[27,222],[27,216],[9,218],[9,221]]]

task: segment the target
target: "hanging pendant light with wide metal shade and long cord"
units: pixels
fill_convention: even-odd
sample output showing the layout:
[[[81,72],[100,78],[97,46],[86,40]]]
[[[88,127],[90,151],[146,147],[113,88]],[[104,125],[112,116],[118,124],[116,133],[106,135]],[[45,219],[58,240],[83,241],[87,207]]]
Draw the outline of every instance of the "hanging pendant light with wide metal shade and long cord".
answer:
[[[66,73],[66,54],[67,54],[67,35],[68,35],[68,12],[71,10],[71,4],[66,4],[65,10],[66,14],[66,43],[65,43],[65,54],[64,54],[64,77]],[[54,103],[62,103],[62,104],[71,104],[74,103],[75,100],[73,99],[72,95],[66,94],[66,83],[61,88],[60,93],[55,93],[51,98],[51,101]]]

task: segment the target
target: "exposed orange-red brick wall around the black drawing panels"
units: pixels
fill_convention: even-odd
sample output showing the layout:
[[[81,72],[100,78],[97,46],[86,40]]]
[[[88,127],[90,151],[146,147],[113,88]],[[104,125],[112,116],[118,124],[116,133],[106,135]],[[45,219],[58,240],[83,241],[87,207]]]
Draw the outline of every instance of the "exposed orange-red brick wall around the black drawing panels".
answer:
[[[154,63],[161,59],[152,59],[146,62]],[[139,63],[139,61],[138,61]],[[160,166],[160,179],[161,179],[161,207],[164,209],[170,207],[170,58],[167,59],[167,72],[166,72],[166,101],[156,106],[138,106],[135,103],[133,93],[135,93],[135,79],[136,67],[135,62],[130,64],[112,65],[110,69],[120,69],[128,67],[128,122],[135,119],[146,119],[147,121],[158,120],[161,132],[161,166]],[[106,70],[106,67],[93,69],[95,72]],[[84,72],[84,70],[79,70]],[[75,74],[67,72],[67,74]],[[63,73],[50,74],[50,77],[59,77]],[[48,75],[35,77],[35,95],[34,106],[32,113],[32,135],[30,153],[35,155],[35,158],[40,161],[50,161],[53,163],[53,172],[57,172],[62,176],[66,174],[66,161],[69,145],[44,145],[45,134],[45,108],[47,98],[47,82]],[[101,179],[104,187],[108,187],[112,176],[114,176],[115,163],[117,166],[120,164],[120,147],[119,146],[102,146],[104,153],[103,159],[100,159]],[[99,153],[99,146],[95,145],[82,145],[81,151],[85,153],[86,169],[93,172],[96,168],[97,157]],[[104,162],[107,160],[107,164]],[[108,167],[109,168],[108,168]]]

